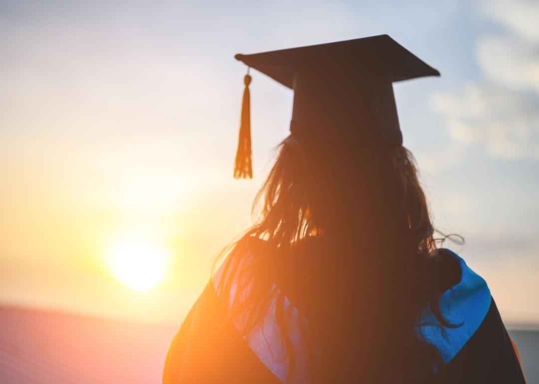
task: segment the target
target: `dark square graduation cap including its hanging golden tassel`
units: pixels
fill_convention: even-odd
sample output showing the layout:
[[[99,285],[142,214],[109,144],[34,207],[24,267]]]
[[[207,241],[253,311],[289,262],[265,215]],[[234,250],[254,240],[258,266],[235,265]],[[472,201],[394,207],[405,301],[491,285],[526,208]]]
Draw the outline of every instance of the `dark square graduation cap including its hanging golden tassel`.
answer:
[[[249,68],[294,90],[292,135],[379,145],[403,141],[392,83],[440,75],[387,34],[235,58],[248,67],[236,178],[252,178]]]

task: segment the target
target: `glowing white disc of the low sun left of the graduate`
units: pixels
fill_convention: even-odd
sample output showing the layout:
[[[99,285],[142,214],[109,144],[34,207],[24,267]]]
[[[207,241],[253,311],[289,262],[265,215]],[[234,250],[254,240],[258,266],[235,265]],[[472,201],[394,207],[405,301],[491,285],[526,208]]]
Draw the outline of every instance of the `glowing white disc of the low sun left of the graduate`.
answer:
[[[122,239],[109,251],[114,276],[137,291],[148,290],[163,280],[167,256],[164,248],[142,239]]]

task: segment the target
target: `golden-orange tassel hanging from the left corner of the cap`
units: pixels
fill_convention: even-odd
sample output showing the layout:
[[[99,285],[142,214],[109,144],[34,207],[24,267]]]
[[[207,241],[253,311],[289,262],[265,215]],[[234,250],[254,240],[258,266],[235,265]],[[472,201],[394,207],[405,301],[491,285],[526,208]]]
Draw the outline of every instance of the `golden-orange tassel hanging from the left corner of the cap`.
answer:
[[[234,166],[234,178],[237,179],[253,177],[251,164],[251,95],[249,92],[251,76],[249,75],[248,67],[243,82],[245,83],[245,90],[243,92],[243,103],[241,104],[238,151],[236,152],[236,164]]]

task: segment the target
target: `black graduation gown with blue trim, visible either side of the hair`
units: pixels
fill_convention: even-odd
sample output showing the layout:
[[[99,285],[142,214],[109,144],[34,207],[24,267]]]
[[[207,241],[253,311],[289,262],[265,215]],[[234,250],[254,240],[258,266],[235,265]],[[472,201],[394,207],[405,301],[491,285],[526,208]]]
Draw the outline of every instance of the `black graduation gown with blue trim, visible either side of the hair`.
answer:
[[[238,252],[251,252],[248,247],[238,249]],[[508,336],[486,282],[461,257],[446,250],[458,260],[461,278],[441,296],[440,311],[451,323],[462,325],[441,326],[427,305],[420,313],[420,325],[414,329],[417,337],[438,348],[452,383],[525,383],[516,346]],[[223,305],[219,305],[216,286],[223,278],[221,274],[218,270],[206,285],[172,340],[163,384],[284,383],[289,360],[275,320],[277,310],[292,313],[288,333],[296,361],[291,383],[308,384],[306,339],[302,332],[308,320],[289,301],[286,289],[284,301],[278,301],[280,288],[274,284],[274,299],[267,315],[242,337],[238,331],[241,316],[229,319]]]

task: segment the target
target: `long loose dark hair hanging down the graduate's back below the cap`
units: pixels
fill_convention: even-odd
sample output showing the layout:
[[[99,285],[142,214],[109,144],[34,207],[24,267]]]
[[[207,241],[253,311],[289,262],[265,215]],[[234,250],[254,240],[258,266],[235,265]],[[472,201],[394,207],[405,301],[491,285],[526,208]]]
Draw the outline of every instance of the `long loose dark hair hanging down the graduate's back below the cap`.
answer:
[[[310,366],[314,382],[434,382],[443,361],[413,328],[427,303],[447,324],[438,299],[459,276],[438,266],[443,257],[412,153],[404,146],[294,135],[278,149],[253,204],[259,219],[234,243],[257,239],[266,246],[248,268],[230,258],[223,267],[227,274],[255,277],[236,287],[229,309],[230,316],[250,312],[240,331],[247,333],[264,316],[255,309],[267,306],[268,276],[286,274],[292,259],[303,260],[306,268],[323,271],[302,280],[317,295],[319,316],[309,318],[310,353],[316,344],[319,359]],[[314,246],[307,246],[309,239],[316,239]],[[230,288],[230,281],[219,282],[225,303]],[[286,313],[277,319],[293,369]]]

